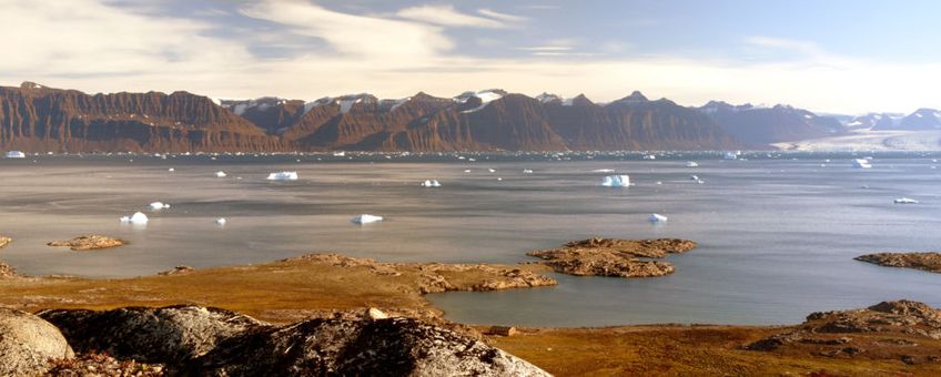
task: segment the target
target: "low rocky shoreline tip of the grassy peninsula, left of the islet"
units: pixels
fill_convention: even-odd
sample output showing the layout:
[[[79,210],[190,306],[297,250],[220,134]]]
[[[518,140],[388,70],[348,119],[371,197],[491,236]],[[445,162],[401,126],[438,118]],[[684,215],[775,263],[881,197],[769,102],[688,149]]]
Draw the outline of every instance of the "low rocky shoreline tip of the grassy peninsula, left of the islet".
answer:
[[[293,261],[326,263],[341,267],[365,267],[380,275],[417,274],[417,288],[422,294],[451,291],[500,291],[558,284],[553,278],[526,269],[486,264],[380,263],[370,258],[354,258],[338,254],[308,254],[284,259],[284,262]]]

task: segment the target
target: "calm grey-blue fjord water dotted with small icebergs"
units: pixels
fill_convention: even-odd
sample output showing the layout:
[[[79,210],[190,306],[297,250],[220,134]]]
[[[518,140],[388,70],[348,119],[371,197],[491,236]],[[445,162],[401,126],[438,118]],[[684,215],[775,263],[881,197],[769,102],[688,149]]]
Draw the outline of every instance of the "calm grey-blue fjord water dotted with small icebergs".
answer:
[[[829,163],[822,155],[795,156],[697,157],[699,167],[686,167],[690,156],[0,160],[0,234],[14,238],[0,251],[0,261],[29,275],[89,277],[263,263],[312,252],[389,262],[515,264],[532,261],[527,251],[589,236],[682,237],[700,246],[668,257],[676,273],[666,277],[553,274],[556,287],[428,298],[454,320],[534,326],[789,324],[810,312],[886,299],[941,305],[941,275],[852,259],[939,248],[941,170],[932,169],[935,163],[915,155],[877,156],[873,169],[856,170],[851,155],[826,156],[833,159]],[[593,171],[601,169],[629,174],[636,185],[599,187],[606,173]],[[300,180],[265,180],[285,170],[297,171]],[[215,177],[216,171],[227,177]],[[691,181],[691,174],[705,183]],[[421,187],[428,179],[443,186]],[[892,203],[902,196],[921,203]],[[154,201],[171,207],[144,211]],[[120,216],[135,211],[146,212],[150,223],[119,224]],[[386,221],[350,223],[362,213]],[[650,213],[669,222],[651,225]],[[217,226],[216,217],[227,223]],[[130,245],[84,253],[44,245],[89,233]]]

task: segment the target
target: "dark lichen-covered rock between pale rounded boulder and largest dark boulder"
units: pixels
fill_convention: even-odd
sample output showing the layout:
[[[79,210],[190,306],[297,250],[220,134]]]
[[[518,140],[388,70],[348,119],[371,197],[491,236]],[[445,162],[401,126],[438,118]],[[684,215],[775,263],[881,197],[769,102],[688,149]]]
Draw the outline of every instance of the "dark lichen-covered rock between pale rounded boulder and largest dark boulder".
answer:
[[[42,310],[80,353],[104,351],[120,359],[181,364],[223,339],[267,326],[237,313],[199,306],[125,307],[113,310]]]

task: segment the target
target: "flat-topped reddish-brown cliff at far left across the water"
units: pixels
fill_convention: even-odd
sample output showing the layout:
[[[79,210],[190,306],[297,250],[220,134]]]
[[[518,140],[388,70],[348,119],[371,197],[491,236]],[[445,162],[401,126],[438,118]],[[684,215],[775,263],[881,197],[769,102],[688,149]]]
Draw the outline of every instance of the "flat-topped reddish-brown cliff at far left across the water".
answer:
[[[251,122],[186,92],[88,95],[23,83],[0,88],[0,147],[29,152],[273,151]]]

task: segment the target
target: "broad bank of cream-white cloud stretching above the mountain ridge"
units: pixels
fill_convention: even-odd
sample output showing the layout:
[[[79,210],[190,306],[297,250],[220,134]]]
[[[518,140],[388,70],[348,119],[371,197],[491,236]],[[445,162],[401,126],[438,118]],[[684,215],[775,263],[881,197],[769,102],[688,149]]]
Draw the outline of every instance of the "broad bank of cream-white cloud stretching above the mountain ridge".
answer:
[[[188,90],[216,98],[277,94],[316,99],[368,91],[401,98],[418,91],[449,96],[504,88],[537,94],[585,92],[598,102],[641,90],[651,98],[699,105],[708,100],[790,103],[814,110],[910,112],[941,108],[941,64],[848,59],[800,41],[757,38],[759,49],[791,51],[789,60],[742,62],[698,57],[566,57],[574,40],[534,50],[550,57],[476,58],[457,53],[443,27],[356,16],[306,1],[262,1],[244,14],[274,23],[265,39],[322,39],[327,48],[267,59],[242,38],[210,37],[217,19],[152,17],[102,0],[4,0],[6,53],[0,83],[31,80],[88,92]],[[563,43],[556,43],[563,42]],[[573,50],[563,50],[571,48]]]

